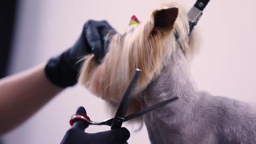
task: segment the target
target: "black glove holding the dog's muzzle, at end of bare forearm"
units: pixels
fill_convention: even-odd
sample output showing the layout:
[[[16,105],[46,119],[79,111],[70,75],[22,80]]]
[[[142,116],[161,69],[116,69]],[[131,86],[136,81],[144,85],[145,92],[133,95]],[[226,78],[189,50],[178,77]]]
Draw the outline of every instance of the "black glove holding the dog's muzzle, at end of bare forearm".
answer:
[[[100,63],[110,41],[109,37],[106,39],[109,32],[114,34],[115,30],[106,21],[86,22],[74,46],[48,61],[45,68],[47,78],[63,88],[75,85],[82,63],[78,61],[83,56],[94,53],[95,60]]]

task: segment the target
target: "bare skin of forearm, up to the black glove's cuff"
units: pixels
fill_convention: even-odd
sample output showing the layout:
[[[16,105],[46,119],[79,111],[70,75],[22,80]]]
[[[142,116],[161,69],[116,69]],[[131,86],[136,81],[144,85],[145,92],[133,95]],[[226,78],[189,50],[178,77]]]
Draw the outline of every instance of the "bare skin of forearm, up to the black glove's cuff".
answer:
[[[0,135],[15,128],[63,88],[46,78],[45,64],[0,79]]]

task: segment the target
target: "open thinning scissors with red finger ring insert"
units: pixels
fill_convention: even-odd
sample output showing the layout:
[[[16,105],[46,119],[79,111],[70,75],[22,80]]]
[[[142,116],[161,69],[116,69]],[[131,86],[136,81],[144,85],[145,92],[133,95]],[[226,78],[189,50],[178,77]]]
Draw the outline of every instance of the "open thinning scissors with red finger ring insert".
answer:
[[[123,122],[129,121],[133,118],[137,118],[141,115],[144,115],[144,114],[146,114],[150,111],[161,108],[164,105],[167,105],[168,103],[178,99],[178,97],[167,99],[165,101],[162,101],[158,104],[149,106],[147,108],[144,108],[141,111],[137,111],[137,112],[125,117],[126,111],[128,109],[128,106],[129,106],[129,102],[131,101],[131,99],[134,95],[135,88],[136,88],[136,85],[138,83],[140,73],[141,73],[140,69],[135,69],[135,72],[132,76],[131,82],[128,85],[128,88],[125,91],[125,94],[124,94],[124,96],[123,96],[123,98],[122,98],[122,100],[121,100],[121,102],[118,106],[118,109],[115,113],[114,118],[109,118],[109,119],[107,119],[105,121],[102,121],[102,122],[95,122],[95,121],[91,121],[90,118],[87,115],[78,113],[78,114],[75,114],[75,115],[71,116],[69,124],[72,126],[74,121],[77,121],[77,120],[81,121],[82,120],[82,121],[85,121],[88,124],[88,126],[90,124],[93,124],[93,125],[108,125],[108,126],[111,126],[111,129],[121,128],[121,125],[123,124]]]

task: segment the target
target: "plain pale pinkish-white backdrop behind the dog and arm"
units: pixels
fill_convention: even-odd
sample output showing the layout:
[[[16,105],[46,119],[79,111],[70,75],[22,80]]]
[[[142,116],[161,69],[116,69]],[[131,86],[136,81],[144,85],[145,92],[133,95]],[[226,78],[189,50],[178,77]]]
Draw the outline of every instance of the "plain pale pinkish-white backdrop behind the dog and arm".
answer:
[[[180,0],[190,8],[195,0]],[[255,102],[255,0],[212,0],[197,27],[202,50],[192,63],[200,89]],[[46,62],[72,46],[89,19],[107,20],[115,29],[128,26],[135,14],[143,21],[158,8],[158,0],[20,0],[9,74]],[[35,95],[36,96],[36,95]],[[21,100],[22,101],[22,100]],[[67,88],[18,128],[5,134],[5,144],[58,144],[70,128],[69,118],[80,105],[95,121],[112,115],[104,102],[82,86]],[[89,126],[87,132],[108,130]],[[148,134],[131,131],[130,144],[148,144]]]

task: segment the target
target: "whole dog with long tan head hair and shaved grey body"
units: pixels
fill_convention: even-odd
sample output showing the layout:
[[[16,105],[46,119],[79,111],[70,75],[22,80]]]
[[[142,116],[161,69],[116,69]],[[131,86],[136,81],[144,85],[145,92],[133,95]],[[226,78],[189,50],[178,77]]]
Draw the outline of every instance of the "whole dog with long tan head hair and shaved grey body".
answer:
[[[93,55],[86,56],[79,82],[115,108],[132,72],[141,69],[128,114],[179,97],[143,116],[152,144],[256,144],[254,106],[197,90],[190,62],[200,40],[197,29],[188,33],[186,10],[167,4],[113,35],[100,65]]]

